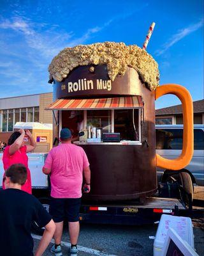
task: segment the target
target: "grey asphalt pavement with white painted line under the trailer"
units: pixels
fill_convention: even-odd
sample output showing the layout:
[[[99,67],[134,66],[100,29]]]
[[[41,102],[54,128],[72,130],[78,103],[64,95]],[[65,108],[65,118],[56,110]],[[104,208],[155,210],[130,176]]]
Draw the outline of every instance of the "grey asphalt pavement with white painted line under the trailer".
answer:
[[[204,255],[204,225],[203,219],[193,220],[194,244],[198,255]],[[81,224],[78,240],[79,256],[152,256],[157,225],[122,226],[122,225],[91,225]],[[40,237],[35,236],[34,245]],[[64,228],[62,236],[63,255],[69,255],[68,227]],[[52,244],[43,255],[53,255],[50,252]]]

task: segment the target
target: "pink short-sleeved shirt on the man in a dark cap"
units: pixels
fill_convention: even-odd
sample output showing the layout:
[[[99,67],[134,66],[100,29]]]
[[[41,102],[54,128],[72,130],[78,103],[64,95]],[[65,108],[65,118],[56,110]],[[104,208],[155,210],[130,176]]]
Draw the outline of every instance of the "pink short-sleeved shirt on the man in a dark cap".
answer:
[[[45,168],[51,169],[51,196],[54,198],[80,198],[82,196],[83,169],[89,166],[82,147],[62,143],[50,150]]]

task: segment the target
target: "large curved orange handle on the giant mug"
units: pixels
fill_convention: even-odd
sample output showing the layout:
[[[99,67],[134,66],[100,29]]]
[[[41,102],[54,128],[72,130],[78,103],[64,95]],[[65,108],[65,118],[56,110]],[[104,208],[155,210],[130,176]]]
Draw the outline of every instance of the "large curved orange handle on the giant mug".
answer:
[[[182,102],[184,132],[182,153],[177,159],[166,159],[156,154],[157,167],[169,170],[181,170],[190,163],[193,156],[193,101],[189,91],[179,84],[163,84],[156,88],[155,99],[174,94]]]

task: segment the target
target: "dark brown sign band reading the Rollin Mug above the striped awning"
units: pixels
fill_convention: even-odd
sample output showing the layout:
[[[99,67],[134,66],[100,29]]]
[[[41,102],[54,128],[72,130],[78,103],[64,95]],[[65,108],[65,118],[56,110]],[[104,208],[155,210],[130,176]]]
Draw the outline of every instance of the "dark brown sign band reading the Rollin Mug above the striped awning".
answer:
[[[57,99],[75,97],[110,97],[111,95],[137,95],[136,86],[130,86],[128,71],[114,81],[107,74],[106,65],[78,67],[62,82],[55,81],[54,93]]]

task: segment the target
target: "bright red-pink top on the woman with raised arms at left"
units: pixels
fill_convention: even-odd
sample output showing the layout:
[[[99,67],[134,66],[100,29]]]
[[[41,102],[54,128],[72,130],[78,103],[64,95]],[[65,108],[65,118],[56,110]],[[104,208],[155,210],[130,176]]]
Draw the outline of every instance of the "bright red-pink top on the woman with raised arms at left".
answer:
[[[31,188],[31,172],[28,168],[28,157],[26,154],[26,146],[21,147],[17,152],[13,155],[9,154],[10,146],[7,146],[4,149],[3,153],[3,164],[4,164],[4,171],[6,171],[12,164],[24,164],[27,169],[27,180],[24,185],[21,186],[21,189],[29,194],[32,194]],[[4,189],[4,184],[3,184]]]

